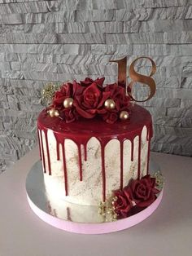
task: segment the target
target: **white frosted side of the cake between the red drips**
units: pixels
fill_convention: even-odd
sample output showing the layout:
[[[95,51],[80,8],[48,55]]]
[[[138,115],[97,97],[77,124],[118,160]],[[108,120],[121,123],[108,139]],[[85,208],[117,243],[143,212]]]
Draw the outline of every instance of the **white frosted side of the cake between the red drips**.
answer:
[[[60,159],[57,160],[56,139],[52,130],[48,130],[47,138],[50,152],[51,175],[48,171],[46,152],[46,139],[43,130],[38,130],[42,135],[45,155],[46,173],[44,180],[46,191],[55,198],[80,205],[98,205],[103,201],[103,176],[101,146],[98,139],[92,137],[87,143],[87,161],[84,160],[84,148],[81,148],[82,159],[82,181],[80,181],[79,157],[76,143],[70,139],[65,140],[65,154],[68,170],[68,196],[65,196],[65,183],[63,175],[63,155],[59,145]],[[41,137],[41,136],[40,136]],[[41,139],[40,139],[41,143]],[[146,126],[142,130],[141,151],[141,175],[146,174],[148,141],[146,140]],[[133,161],[131,161],[131,142],[124,141],[123,145],[123,180],[124,186],[130,179],[137,179],[138,163],[138,136],[134,139]],[[41,155],[42,155],[42,148]],[[106,196],[111,196],[112,190],[120,188],[120,142],[111,139],[105,148],[106,169]]]

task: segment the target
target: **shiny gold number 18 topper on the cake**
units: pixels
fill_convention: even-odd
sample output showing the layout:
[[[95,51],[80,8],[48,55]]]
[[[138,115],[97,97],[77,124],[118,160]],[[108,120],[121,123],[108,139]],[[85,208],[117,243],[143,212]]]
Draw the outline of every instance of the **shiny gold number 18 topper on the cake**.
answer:
[[[136,64],[137,60],[140,59],[147,59],[151,61],[151,73],[149,76],[146,75],[142,75],[141,73],[137,73],[134,69],[134,65]],[[120,84],[124,84],[124,86],[126,86],[127,84],[127,57],[125,57],[124,59],[121,60],[111,60],[110,62],[116,62],[118,64],[118,82]],[[138,57],[136,60],[133,60],[133,62],[130,64],[129,66],[129,77],[131,78],[131,82],[129,83],[128,87],[127,87],[127,92],[130,95],[131,99],[137,102],[144,102],[148,99],[151,99],[153,97],[153,95],[155,95],[155,90],[156,90],[156,85],[155,85],[155,81],[152,78],[152,76],[155,74],[156,72],[156,65],[155,62],[149,58],[149,57]],[[142,84],[145,84],[147,86],[150,87],[150,94],[148,95],[148,97],[144,100],[137,100],[133,98],[132,95],[132,88],[133,85],[136,82],[141,82]]]

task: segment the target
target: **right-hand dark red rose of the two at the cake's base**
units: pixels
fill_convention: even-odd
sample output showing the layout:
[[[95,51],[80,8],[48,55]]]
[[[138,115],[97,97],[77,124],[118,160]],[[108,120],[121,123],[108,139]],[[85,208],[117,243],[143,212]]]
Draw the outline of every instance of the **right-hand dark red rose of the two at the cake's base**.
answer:
[[[159,193],[159,190],[155,188],[155,178],[151,178],[150,174],[142,179],[133,180],[129,188],[131,199],[138,207],[151,205],[156,199],[155,194]]]

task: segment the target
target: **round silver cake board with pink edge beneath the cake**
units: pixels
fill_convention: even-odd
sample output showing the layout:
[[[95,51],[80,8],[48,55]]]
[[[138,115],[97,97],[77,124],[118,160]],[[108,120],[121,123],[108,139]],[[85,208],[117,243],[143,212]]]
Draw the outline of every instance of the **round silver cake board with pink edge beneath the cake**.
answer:
[[[150,169],[159,170],[159,167],[151,161]],[[28,203],[39,218],[54,227],[81,234],[103,234],[133,227],[156,210],[163,196],[162,190],[146,209],[128,218],[111,221],[98,214],[98,206],[76,205],[50,196],[46,192],[41,161],[37,161],[28,173],[26,192]]]

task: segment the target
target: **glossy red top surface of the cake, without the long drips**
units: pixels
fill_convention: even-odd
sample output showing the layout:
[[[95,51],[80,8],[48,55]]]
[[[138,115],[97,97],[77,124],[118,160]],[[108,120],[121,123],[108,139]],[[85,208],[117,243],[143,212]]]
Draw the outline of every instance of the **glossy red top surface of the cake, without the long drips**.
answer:
[[[116,121],[108,124],[102,119],[80,119],[71,123],[63,122],[60,118],[52,118],[46,109],[42,110],[38,117],[38,126],[41,129],[54,130],[57,134],[77,135],[80,137],[107,137],[113,136],[114,139],[119,135],[135,134],[137,130],[142,130],[143,126],[151,125],[151,114],[141,106],[133,104],[131,107],[131,117],[126,121]]]

